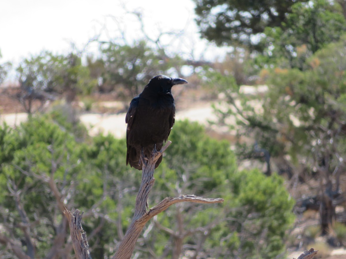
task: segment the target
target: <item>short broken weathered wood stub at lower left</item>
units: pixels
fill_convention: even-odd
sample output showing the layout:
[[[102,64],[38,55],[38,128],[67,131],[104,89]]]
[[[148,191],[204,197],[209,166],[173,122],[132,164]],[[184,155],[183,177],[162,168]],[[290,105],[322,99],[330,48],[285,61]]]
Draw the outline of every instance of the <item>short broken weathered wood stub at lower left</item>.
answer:
[[[86,233],[82,228],[83,212],[75,210],[73,213],[64,208],[64,214],[69,221],[73,250],[77,259],[91,259]]]

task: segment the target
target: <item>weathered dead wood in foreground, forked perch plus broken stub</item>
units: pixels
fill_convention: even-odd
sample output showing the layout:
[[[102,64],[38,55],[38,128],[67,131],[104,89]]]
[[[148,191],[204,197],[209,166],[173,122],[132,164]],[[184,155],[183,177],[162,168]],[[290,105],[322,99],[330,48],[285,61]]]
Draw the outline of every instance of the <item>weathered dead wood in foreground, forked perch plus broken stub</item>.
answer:
[[[167,197],[147,211],[148,195],[155,182],[155,163],[171,143],[171,141],[167,141],[166,145],[162,147],[160,151],[153,150],[148,161],[142,161],[142,183],[140,184],[139,191],[136,197],[134,217],[125,233],[124,239],[121,241],[120,246],[112,259],[130,259],[133,250],[135,249],[137,239],[142,232],[145,224],[155,215],[166,210],[171,205],[185,201],[196,203],[221,203],[224,201],[224,199],[220,198],[204,199],[195,195],[182,195],[176,198]],[[86,240],[86,233],[81,226],[82,214],[80,214],[79,210],[75,210],[75,212],[72,213],[66,208],[64,210],[64,214],[66,215],[70,223],[71,238],[76,258],[91,258],[89,253],[89,244]]]

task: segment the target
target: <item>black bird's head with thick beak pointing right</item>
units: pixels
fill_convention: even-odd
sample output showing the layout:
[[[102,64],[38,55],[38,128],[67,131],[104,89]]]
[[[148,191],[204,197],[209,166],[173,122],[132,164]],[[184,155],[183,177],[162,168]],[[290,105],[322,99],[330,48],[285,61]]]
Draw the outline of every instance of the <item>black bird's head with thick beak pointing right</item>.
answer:
[[[157,93],[171,94],[173,85],[183,85],[187,83],[188,81],[182,78],[172,78],[165,75],[158,75],[150,79],[147,87],[151,88],[151,90],[154,90]]]

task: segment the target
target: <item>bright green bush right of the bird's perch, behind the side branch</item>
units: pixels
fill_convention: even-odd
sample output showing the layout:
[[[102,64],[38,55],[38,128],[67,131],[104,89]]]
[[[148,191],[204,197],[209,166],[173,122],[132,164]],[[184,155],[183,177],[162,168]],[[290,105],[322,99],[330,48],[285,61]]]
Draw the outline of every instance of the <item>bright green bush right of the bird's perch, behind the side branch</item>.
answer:
[[[273,258],[281,253],[285,230],[294,220],[291,212],[294,200],[286,192],[283,179],[275,175],[267,178],[258,171],[237,172],[229,143],[208,137],[197,123],[177,122],[169,139],[172,145],[155,171],[154,189],[160,194],[155,202],[172,192],[210,198],[221,196],[225,202],[222,207],[189,203],[179,204],[175,209],[172,206],[167,213],[158,216],[158,222],[174,232],[180,229],[179,221],[172,224],[174,218],[180,218],[183,226],[192,232],[205,226],[204,233],[187,236],[185,242],[195,246],[208,233],[203,253],[209,257],[252,258],[258,257],[260,251],[261,258]],[[255,215],[254,218],[251,215]],[[259,246],[260,240],[267,246]],[[160,242],[156,239],[156,244]],[[167,253],[173,247],[174,242],[162,252]]]

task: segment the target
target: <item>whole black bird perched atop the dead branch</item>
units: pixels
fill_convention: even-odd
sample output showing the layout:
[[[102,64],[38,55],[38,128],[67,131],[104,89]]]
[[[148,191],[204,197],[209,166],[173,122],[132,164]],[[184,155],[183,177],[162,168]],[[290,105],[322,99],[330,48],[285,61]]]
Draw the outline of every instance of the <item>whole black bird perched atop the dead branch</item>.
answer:
[[[160,151],[175,119],[175,104],[172,86],[187,84],[182,78],[158,75],[150,79],[143,92],[132,99],[127,111],[126,165],[142,170],[141,153],[150,157],[154,147]],[[142,157],[144,158],[144,157]],[[155,168],[161,163],[162,155]]]

